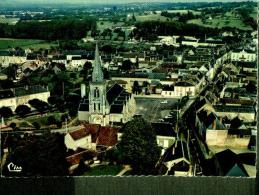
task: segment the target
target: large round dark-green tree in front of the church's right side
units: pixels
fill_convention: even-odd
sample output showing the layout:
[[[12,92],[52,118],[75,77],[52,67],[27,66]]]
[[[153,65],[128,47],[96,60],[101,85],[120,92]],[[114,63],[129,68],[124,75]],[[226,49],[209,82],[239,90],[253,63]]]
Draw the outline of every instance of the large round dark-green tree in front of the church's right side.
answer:
[[[154,129],[141,117],[135,117],[122,129],[118,150],[124,164],[129,164],[134,174],[155,174],[160,157]]]

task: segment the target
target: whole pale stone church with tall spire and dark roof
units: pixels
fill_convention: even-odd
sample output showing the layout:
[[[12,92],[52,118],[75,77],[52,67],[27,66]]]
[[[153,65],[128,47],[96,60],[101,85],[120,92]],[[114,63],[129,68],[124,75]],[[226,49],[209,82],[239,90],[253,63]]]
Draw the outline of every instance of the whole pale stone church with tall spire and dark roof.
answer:
[[[104,79],[98,45],[95,49],[95,60],[89,93],[86,85],[81,85],[82,101],[79,105],[78,119],[91,124],[119,125],[132,119],[136,102],[131,93],[115,83],[112,85]]]

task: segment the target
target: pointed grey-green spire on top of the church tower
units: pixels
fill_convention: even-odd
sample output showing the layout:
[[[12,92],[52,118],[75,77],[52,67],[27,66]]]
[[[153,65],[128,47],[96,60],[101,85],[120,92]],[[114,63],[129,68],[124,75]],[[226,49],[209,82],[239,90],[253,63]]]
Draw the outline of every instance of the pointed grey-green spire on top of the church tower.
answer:
[[[101,58],[99,55],[97,43],[96,43],[96,48],[95,48],[95,60],[94,60],[94,68],[93,68],[93,73],[92,73],[92,81],[93,82],[102,82],[103,81]]]

